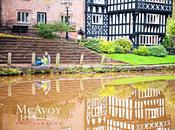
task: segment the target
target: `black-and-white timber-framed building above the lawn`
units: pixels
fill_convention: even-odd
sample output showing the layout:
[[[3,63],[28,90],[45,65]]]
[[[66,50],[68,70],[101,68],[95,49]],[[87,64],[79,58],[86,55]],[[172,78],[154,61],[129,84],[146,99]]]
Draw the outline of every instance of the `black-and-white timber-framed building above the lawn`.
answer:
[[[134,46],[159,45],[172,15],[172,0],[86,0],[86,37],[129,38]]]

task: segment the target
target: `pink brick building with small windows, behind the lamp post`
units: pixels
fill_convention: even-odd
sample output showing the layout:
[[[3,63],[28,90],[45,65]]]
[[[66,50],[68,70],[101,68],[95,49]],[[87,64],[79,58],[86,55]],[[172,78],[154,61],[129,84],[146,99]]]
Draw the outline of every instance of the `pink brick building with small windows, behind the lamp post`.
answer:
[[[32,28],[38,23],[65,20],[66,9],[63,0],[1,0],[1,26],[25,25]],[[79,29],[84,28],[84,0],[72,0],[69,21]]]

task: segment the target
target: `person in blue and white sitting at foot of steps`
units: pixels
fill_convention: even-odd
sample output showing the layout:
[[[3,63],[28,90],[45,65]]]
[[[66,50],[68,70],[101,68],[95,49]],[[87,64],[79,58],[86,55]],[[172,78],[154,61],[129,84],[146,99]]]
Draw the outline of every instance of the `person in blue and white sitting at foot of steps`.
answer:
[[[51,63],[51,58],[48,52],[46,51],[45,54],[43,55],[43,58],[36,58],[35,65],[40,66],[40,65],[50,65]]]

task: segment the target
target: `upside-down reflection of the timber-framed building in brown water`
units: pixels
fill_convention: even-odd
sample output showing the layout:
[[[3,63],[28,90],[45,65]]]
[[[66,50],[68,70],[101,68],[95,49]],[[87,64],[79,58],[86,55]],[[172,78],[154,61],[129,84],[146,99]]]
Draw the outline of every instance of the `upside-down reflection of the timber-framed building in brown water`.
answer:
[[[148,89],[127,99],[106,96],[86,101],[86,130],[170,130],[165,96]]]

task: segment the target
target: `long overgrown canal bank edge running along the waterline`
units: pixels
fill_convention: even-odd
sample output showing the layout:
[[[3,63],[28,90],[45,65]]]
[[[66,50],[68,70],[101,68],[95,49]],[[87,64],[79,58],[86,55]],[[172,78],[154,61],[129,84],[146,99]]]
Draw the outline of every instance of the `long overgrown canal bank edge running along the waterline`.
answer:
[[[165,65],[139,65],[139,66],[116,66],[116,65],[59,65],[59,66],[0,66],[0,76],[29,75],[29,74],[74,74],[74,73],[108,73],[130,71],[174,71],[175,64]]]

